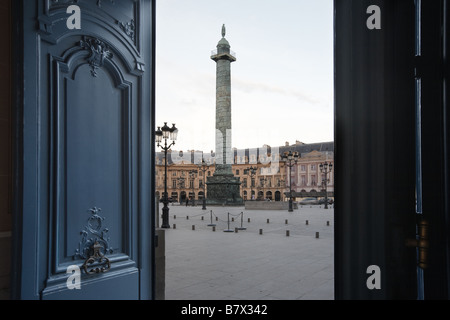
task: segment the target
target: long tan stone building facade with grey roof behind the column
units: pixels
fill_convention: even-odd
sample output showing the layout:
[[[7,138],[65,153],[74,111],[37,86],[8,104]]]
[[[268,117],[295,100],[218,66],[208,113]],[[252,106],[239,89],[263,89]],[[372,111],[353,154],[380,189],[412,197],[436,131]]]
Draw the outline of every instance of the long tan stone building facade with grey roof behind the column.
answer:
[[[281,160],[284,152],[293,151],[299,154],[297,163],[288,168]],[[234,159],[232,171],[241,181],[240,196],[244,200],[288,200],[289,182],[294,200],[318,196],[324,190],[324,174],[320,172],[320,164],[334,164],[333,142],[304,144],[286,143],[280,147],[264,145],[261,148],[233,149]],[[198,201],[207,197],[207,177],[214,174],[215,154],[202,151],[171,151],[168,153],[167,192],[171,201],[186,203],[187,199]],[[208,167],[203,170],[198,166],[202,158]],[[156,154],[156,195],[164,192],[164,154]],[[255,168],[256,170],[248,170]],[[289,179],[289,174],[291,179]],[[327,192],[333,196],[334,169],[328,174]],[[194,204],[194,202],[191,202]]]

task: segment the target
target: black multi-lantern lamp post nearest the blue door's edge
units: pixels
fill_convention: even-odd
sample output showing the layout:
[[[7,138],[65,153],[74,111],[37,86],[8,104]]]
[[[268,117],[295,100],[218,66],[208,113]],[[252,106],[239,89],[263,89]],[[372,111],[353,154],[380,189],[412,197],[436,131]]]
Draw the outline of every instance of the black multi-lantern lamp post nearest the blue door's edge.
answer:
[[[177,140],[178,129],[175,127],[175,123],[170,128],[167,125],[167,122],[164,122],[164,126],[162,128],[158,127],[158,130],[155,132],[156,144],[158,147],[164,151],[164,195],[163,195],[163,204],[164,207],[162,209],[162,225],[161,228],[170,228],[169,225],[169,197],[167,194],[167,150],[170,149],[171,146],[175,144],[175,140]],[[172,142],[168,145],[167,139],[172,140]],[[161,145],[162,140],[164,140],[164,146]]]

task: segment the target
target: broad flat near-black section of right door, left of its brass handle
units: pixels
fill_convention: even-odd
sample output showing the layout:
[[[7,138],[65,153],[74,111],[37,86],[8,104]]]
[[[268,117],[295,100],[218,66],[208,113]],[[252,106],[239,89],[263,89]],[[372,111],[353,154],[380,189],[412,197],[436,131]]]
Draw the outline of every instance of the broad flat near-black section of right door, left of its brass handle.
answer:
[[[335,296],[415,299],[414,1],[334,6]]]

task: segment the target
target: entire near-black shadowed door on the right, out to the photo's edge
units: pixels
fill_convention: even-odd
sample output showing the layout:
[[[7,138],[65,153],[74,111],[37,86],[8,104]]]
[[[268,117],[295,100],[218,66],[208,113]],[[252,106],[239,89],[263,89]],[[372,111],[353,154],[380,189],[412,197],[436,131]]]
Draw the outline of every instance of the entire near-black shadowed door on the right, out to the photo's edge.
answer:
[[[448,8],[335,0],[338,299],[449,297]]]

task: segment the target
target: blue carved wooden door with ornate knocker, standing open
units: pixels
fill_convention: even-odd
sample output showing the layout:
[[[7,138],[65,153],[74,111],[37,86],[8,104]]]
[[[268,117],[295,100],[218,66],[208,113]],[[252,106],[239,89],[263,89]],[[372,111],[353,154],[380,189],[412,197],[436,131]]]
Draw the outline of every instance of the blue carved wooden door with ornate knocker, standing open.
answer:
[[[15,4],[15,298],[153,297],[153,9]]]

